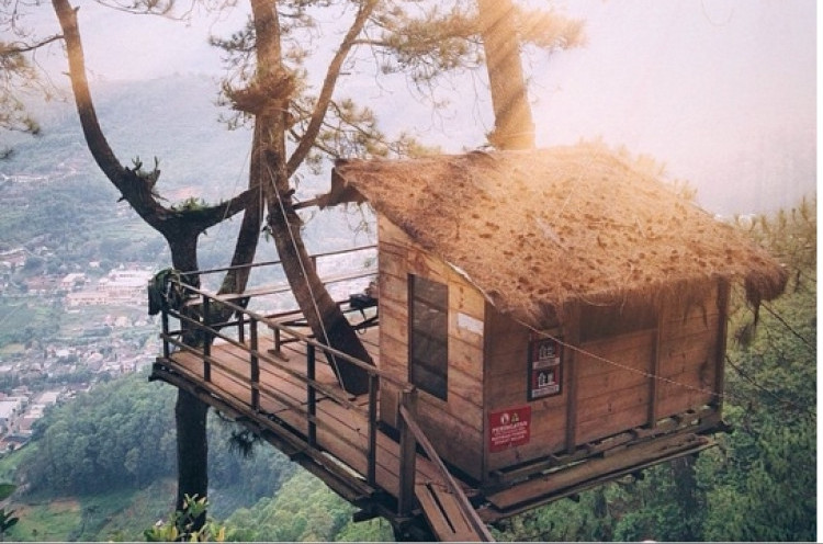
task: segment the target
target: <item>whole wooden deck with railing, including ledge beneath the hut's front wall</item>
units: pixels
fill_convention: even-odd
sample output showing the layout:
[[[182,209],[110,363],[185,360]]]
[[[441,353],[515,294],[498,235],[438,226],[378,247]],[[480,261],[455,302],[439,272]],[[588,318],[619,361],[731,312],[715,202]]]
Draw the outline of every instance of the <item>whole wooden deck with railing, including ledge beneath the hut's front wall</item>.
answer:
[[[208,299],[221,304],[193,291],[203,302],[201,311]],[[361,508],[357,519],[384,517],[398,535],[488,541],[485,523],[713,444],[700,431],[717,428],[717,412],[690,412],[653,430],[638,429],[500,472],[496,484],[460,479],[415,421],[415,388],[380,371],[376,326],[362,330],[361,339],[377,366],[356,362],[369,372],[370,390],[352,396],[339,386],[325,347],[283,325],[282,315],[271,319],[223,304],[236,310],[235,320],[216,326],[192,314],[198,311],[192,305],[182,313],[164,309],[164,354],[151,377],[247,426]],[[206,331],[214,342],[183,345],[181,330],[170,328],[174,319]],[[288,322],[294,324],[294,315]],[[404,392],[397,430],[377,423],[380,384],[385,381]]]

